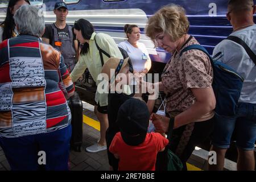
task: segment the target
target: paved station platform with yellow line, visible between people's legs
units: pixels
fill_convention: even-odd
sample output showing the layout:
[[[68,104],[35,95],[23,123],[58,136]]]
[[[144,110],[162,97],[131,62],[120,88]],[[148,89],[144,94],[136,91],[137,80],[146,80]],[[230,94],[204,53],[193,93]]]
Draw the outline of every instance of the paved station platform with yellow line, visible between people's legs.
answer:
[[[83,101],[83,143],[81,152],[71,150],[71,171],[109,171],[108,155],[106,150],[89,153],[85,148],[96,143],[100,138],[100,122],[93,112],[93,105]],[[187,162],[188,171],[204,171],[208,166],[208,151],[196,147]],[[225,159],[225,169],[236,171],[236,163]],[[9,163],[0,147],[0,171],[10,171]]]

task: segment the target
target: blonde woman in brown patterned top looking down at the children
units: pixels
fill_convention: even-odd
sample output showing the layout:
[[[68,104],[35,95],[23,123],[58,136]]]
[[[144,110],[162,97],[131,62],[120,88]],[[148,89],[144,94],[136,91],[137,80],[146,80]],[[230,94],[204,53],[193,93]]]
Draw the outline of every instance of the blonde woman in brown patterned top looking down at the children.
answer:
[[[180,157],[184,169],[195,146],[212,133],[216,104],[208,56],[197,49],[182,53],[185,47],[199,44],[188,35],[188,29],[185,10],[178,5],[164,6],[148,19],[146,26],[146,35],[155,46],[172,54],[162,82],[156,83],[166,94],[166,117],[152,114],[151,119],[159,133],[174,126],[171,150]]]

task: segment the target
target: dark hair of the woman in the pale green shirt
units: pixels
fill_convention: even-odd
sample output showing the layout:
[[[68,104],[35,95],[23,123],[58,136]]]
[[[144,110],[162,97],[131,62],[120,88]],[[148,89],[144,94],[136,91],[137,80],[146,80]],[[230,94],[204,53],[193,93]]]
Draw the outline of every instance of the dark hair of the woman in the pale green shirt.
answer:
[[[78,31],[81,30],[82,37],[85,40],[90,40],[90,37],[92,36],[92,34],[94,32],[92,23],[90,23],[88,20],[82,19],[82,18],[75,22],[74,28]],[[80,42],[79,42],[79,46],[80,46]],[[88,52],[88,50],[89,50],[89,44],[84,43],[84,45],[81,47],[80,54],[85,55]]]

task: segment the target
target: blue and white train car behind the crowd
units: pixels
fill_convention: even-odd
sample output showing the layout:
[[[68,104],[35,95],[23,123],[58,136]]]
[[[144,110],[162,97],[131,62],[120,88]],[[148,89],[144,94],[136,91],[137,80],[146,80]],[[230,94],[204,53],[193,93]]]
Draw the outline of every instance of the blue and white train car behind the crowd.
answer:
[[[32,5],[44,11],[46,24],[55,22],[53,7],[55,0],[31,0]],[[84,18],[91,22],[96,32],[112,36],[118,44],[125,40],[123,26],[126,23],[137,24],[141,28],[141,42],[146,45],[152,60],[150,73],[162,73],[164,65],[170,59],[170,53],[154,44],[144,34],[147,20],[162,6],[170,3],[183,6],[190,22],[189,34],[195,36],[210,54],[214,46],[232,32],[232,26],[226,19],[227,0],[63,0],[67,3],[69,14],[67,23]],[[0,22],[5,19],[8,0],[0,2]],[[256,16],[254,16],[256,20]],[[80,85],[93,87],[93,80],[85,73],[86,80]],[[94,87],[95,88],[95,87]]]

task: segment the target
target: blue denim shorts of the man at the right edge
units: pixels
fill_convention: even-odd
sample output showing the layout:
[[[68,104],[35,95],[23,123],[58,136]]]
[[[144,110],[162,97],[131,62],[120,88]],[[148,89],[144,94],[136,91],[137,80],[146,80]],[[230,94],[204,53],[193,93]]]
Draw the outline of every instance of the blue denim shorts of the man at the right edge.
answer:
[[[236,127],[236,145],[242,150],[254,150],[256,140],[256,104],[238,104],[237,114],[226,117],[215,114],[213,146],[229,148],[230,139]]]

